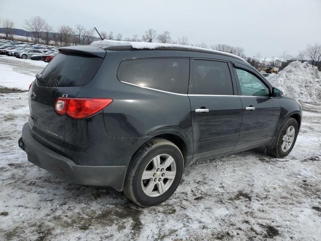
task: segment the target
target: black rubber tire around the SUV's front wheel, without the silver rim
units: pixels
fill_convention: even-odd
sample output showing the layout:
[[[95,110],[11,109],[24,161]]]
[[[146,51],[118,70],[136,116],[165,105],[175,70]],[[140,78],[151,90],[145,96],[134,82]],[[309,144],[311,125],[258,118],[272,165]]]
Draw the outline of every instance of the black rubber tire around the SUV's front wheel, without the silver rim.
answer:
[[[284,150],[282,148],[283,138],[284,138],[284,135],[286,134],[286,131],[289,128],[290,128],[289,130],[291,130],[291,127],[294,128],[294,130],[295,130],[293,141],[292,141],[290,147],[287,150]],[[278,132],[278,134],[276,136],[275,143],[274,143],[274,147],[271,150],[269,150],[270,155],[272,155],[274,157],[286,157],[291,152],[292,148],[294,147],[297,134],[298,134],[298,124],[294,118],[290,117],[283,124],[280,131]]]

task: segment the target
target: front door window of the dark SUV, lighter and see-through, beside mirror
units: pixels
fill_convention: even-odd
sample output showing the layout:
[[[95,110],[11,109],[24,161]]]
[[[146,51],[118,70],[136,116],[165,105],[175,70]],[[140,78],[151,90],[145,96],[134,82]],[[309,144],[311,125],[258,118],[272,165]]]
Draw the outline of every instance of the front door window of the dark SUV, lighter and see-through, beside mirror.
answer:
[[[248,96],[269,96],[269,89],[255,75],[243,69],[236,69],[241,94]]]

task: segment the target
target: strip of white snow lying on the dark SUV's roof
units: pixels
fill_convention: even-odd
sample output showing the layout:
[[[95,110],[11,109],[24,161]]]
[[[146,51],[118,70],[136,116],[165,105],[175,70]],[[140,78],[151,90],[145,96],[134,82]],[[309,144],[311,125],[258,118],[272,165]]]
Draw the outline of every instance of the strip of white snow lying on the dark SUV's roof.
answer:
[[[227,56],[231,56],[231,57],[245,61],[243,58],[235,54],[230,54],[227,52],[222,52],[222,51],[213,50],[213,49],[199,48],[199,47],[190,46],[190,45],[181,45],[181,44],[131,42],[131,41],[118,41],[118,40],[104,39],[104,40],[93,41],[90,45],[94,45],[102,48],[108,48],[113,46],[130,46],[133,49],[182,48],[182,49],[190,49],[190,50],[196,50],[196,51],[197,50],[206,51],[213,54],[227,55]]]

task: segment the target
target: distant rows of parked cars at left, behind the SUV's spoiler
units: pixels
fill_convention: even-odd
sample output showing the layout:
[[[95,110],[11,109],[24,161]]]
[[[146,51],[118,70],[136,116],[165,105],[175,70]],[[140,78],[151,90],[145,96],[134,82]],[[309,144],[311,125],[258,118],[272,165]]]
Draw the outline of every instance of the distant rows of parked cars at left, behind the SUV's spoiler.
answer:
[[[57,53],[57,48],[50,45],[0,40],[0,55],[50,62]]]

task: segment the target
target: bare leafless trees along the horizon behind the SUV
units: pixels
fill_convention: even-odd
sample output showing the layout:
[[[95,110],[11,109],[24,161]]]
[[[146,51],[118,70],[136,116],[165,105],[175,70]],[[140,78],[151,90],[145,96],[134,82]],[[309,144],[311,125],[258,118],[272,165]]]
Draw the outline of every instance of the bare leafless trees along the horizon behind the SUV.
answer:
[[[1,23],[1,20],[0,20]],[[13,39],[14,35],[14,22],[9,19],[2,21],[4,33],[7,39]],[[84,45],[90,44],[94,40],[98,40],[95,37],[94,28],[85,28],[83,25],[78,24],[74,27],[69,25],[60,25],[56,28],[49,25],[44,19],[39,16],[32,17],[24,21],[24,29],[28,30],[32,34],[32,38],[36,43],[54,44],[56,46],[70,46],[70,45]],[[144,32],[141,37],[133,35],[132,37],[123,37],[121,33],[114,33],[113,31],[101,31],[100,35],[103,39],[107,40],[123,40],[123,41],[143,41],[143,42],[158,42],[158,43],[171,43],[181,45],[192,45],[190,44],[188,37],[179,37],[177,40],[173,40],[169,31],[163,33],[157,33],[154,29],[148,29]],[[28,37],[28,36],[26,36]],[[270,58],[265,60],[258,53],[254,57],[246,57],[244,49],[241,47],[230,46],[227,44],[216,44],[210,45],[200,43],[194,44],[196,47],[211,48],[214,50],[227,52],[238,55],[255,68],[262,68],[264,66],[276,66],[280,63],[280,69],[286,67],[288,63],[294,60],[309,60],[312,66],[317,66],[321,70],[321,44],[307,45],[304,51],[298,53],[297,56],[287,55],[285,52],[279,56],[279,58]],[[281,59],[282,61],[279,61]]]

